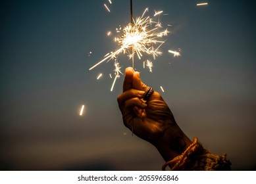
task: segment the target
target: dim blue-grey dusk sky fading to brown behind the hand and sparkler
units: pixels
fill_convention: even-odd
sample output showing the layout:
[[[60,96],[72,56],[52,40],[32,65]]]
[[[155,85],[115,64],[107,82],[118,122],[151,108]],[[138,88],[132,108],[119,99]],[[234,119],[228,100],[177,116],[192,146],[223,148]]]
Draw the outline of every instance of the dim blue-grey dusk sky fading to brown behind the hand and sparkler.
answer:
[[[232,170],[255,170],[255,2],[201,2],[134,0],[134,17],[148,7],[172,25],[153,72],[138,58],[135,68],[190,139],[226,153]],[[129,21],[128,0],[1,1],[1,170],[161,170],[155,147],[122,123],[124,76],[110,91],[113,63],[88,70],[118,48],[115,28]],[[118,60],[122,72],[131,66]]]

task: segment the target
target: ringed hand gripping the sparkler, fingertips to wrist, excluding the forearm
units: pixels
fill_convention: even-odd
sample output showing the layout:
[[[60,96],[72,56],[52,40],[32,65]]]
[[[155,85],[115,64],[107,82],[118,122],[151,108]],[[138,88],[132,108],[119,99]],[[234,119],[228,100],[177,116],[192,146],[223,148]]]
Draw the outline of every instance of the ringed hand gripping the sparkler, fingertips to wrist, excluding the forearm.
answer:
[[[147,85],[140,73],[126,68],[123,93],[118,96],[118,105],[124,125],[141,139],[153,143],[168,127],[176,126],[172,112],[156,91],[143,101]]]

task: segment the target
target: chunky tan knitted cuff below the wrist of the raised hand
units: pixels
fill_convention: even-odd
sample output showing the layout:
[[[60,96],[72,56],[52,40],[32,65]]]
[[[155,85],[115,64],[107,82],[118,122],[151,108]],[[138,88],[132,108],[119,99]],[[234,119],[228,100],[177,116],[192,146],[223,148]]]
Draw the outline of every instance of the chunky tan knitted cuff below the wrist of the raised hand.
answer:
[[[226,154],[215,155],[204,149],[197,137],[193,139],[193,143],[179,156],[166,162],[162,170],[166,170],[169,166],[170,170],[231,170],[231,162],[226,158]]]

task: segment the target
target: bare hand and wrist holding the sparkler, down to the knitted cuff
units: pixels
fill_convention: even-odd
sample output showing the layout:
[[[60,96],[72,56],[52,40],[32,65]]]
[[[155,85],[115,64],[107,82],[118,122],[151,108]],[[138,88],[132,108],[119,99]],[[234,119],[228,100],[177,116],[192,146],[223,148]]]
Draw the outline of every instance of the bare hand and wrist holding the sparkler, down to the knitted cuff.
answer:
[[[157,147],[165,160],[170,160],[192,142],[178,127],[170,108],[157,91],[147,101],[143,100],[146,90],[140,73],[126,68],[123,93],[117,98],[124,125]]]

